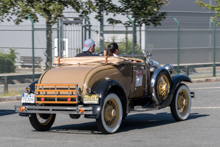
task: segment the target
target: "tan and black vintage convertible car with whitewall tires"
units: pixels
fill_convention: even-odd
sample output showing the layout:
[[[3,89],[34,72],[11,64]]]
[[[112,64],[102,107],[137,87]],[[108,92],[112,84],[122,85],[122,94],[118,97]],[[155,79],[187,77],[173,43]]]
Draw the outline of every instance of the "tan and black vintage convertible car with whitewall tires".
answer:
[[[62,113],[72,119],[94,118],[106,134],[115,133],[131,111],[170,106],[175,120],[188,118],[194,93],[184,83],[191,79],[171,76],[171,64],[161,67],[147,55],[143,60],[126,56],[104,61],[103,56],[56,58],[56,66],[26,88],[15,111],[29,116],[38,131],[49,130]]]

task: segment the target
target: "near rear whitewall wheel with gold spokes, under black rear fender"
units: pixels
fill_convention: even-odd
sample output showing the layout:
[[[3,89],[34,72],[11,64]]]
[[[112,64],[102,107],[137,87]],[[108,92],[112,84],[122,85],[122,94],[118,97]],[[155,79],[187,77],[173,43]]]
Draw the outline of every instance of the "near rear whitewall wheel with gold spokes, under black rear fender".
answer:
[[[96,119],[99,130],[104,134],[116,132],[122,121],[123,109],[119,97],[110,93],[104,99],[101,116]]]

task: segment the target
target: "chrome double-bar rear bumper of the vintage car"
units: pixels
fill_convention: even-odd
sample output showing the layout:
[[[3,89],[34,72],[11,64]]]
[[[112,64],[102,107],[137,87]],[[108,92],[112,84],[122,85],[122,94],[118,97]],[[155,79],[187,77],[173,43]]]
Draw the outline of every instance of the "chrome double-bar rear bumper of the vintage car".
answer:
[[[24,111],[20,111],[24,107]],[[80,109],[84,110],[83,112]],[[60,106],[15,106],[15,112],[19,113],[45,113],[45,114],[93,114],[92,107],[60,107]]]

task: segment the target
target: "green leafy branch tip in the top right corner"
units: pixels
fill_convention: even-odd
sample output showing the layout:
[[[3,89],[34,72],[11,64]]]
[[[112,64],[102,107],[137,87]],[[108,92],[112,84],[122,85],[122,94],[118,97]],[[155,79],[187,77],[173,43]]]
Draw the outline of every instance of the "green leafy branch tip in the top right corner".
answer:
[[[201,2],[200,0],[196,0],[196,3],[199,5],[199,7],[204,7],[207,8],[211,11],[215,11],[216,12],[216,18],[220,18],[220,0],[216,0],[215,4],[216,5],[210,5],[210,4],[206,4],[204,2]],[[217,22],[217,25],[220,25],[220,21],[217,21],[216,18],[212,17],[212,20],[214,20],[215,22]]]

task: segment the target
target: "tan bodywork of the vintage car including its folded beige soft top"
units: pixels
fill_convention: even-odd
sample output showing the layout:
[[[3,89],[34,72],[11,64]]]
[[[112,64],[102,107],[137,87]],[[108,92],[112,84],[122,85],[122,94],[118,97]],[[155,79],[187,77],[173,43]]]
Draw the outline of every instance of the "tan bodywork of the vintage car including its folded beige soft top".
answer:
[[[86,59],[85,59],[86,58]],[[67,60],[66,60],[67,59]],[[136,70],[140,65],[130,64],[129,58],[110,58],[104,64],[104,57],[75,57],[55,59],[56,67],[46,71],[38,84],[78,84],[80,95],[86,94],[86,88],[92,88],[99,80],[115,80],[123,86],[126,97],[134,98],[144,95],[145,81],[142,86],[135,87]],[[86,62],[83,62],[86,60]],[[132,58],[130,59],[132,60]],[[143,60],[139,60],[142,63]],[[142,66],[146,70],[146,67]],[[146,79],[146,71],[143,79]]]

